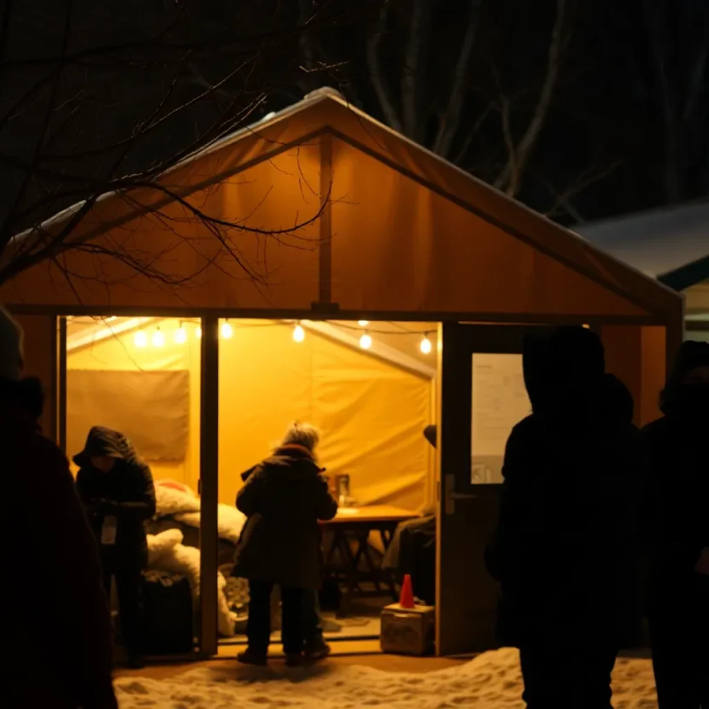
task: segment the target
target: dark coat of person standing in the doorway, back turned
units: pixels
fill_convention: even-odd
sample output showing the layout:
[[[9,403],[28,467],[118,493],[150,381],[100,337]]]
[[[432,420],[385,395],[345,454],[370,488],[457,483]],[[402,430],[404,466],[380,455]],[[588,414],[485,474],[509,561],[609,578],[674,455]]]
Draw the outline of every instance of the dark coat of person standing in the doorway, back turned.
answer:
[[[311,454],[279,448],[255,469],[236,497],[247,515],[236,547],[234,576],[294,588],[320,588],[318,520],[331,520],[337,503]]]

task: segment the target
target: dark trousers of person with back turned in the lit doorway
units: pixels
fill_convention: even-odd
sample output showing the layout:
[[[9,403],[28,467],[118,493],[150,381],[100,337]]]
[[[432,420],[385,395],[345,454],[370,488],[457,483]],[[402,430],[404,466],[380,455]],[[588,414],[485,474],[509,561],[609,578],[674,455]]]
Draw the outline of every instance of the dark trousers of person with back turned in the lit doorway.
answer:
[[[266,654],[271,639],[271,581],[249,581],[249,649]],[[281,637],[286,654],[303,652],[303,588],[281,586]]]

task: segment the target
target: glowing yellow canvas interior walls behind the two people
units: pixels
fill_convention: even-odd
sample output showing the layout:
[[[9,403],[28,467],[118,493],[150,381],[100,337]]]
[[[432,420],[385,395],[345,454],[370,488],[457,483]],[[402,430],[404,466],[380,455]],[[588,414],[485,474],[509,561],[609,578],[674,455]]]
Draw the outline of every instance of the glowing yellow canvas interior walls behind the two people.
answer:
[[[71,318],[67,452],[79,452],[101,422],[133,441],[155,479],[197,490],[197,327],[174,318]],[[336,323],[305,321],[302,342],[279,320],[230,320],[229,328],[228,337],[220,334],[220,503],[233,505],[240,474],[301,420],[322,432],[328,474],[349,475],[359,503],[430,505],[432,450],[422,432],[433,420],[435,358],[415,356],[420,335],[382,328],[396,350],[373,356]],[[136,344],[139,332],[147,345]]]

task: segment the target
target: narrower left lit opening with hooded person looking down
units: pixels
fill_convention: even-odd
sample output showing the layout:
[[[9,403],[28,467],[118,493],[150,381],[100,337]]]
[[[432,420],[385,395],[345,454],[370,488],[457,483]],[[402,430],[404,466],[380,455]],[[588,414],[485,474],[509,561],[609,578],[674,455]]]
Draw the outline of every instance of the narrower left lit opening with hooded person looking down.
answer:
[[[177,318],[80,316],[67,318],[66,332],[66,452],[101,537],[116,645],[130,655],[133,635],[136,654],[191,653],[201,566],[196,326]],[[111,434],[96,437],[116,460],[111,469],[96,467],[88,454],[76,457],[91,447],[94,427],[122,435],[111,450],[104,445]],[[124,506],[125,514],[106,513],[106,504]],[[111,517],[113,540],[104,540]]]

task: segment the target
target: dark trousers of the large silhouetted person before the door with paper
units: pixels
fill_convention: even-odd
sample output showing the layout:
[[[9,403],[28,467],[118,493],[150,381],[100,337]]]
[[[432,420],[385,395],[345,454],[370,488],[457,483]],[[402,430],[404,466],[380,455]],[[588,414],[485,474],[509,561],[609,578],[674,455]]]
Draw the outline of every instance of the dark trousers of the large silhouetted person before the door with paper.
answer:
[[[527,709],[612,709],[610,673],[618,649],[601,643],[549,644],[541,639],[520,648]]]

